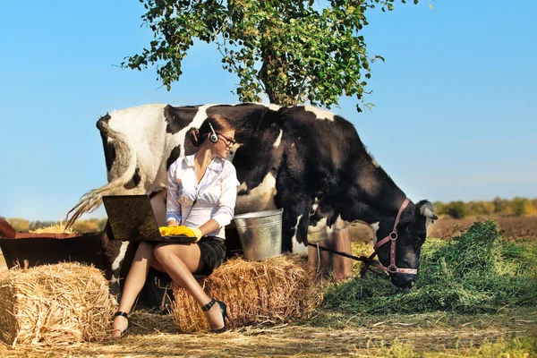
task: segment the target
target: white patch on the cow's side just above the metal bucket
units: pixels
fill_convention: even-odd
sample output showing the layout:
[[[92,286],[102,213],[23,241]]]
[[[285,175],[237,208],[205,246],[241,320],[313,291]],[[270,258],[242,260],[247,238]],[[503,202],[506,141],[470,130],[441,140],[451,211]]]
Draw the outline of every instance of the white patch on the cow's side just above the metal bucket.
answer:
[[[241,183],[237,192],[248,190],[246,183]],[[265,175],[259,186],[251,188],[248,195],[237,196],[235,214],[243,214],[251,211],[276,209],[274,196],[276,195],[276,177],[272,173]],[[240,208],[237,210],[237,208]]]

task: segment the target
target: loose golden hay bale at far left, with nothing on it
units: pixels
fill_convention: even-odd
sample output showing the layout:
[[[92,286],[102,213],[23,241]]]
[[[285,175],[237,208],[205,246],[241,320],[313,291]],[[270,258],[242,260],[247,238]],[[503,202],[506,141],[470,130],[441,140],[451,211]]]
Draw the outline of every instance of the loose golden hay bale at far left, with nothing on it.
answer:
[[[0,274],[0,336],[13,346],[101,340],[114,307],[98,268],[75,262]]]

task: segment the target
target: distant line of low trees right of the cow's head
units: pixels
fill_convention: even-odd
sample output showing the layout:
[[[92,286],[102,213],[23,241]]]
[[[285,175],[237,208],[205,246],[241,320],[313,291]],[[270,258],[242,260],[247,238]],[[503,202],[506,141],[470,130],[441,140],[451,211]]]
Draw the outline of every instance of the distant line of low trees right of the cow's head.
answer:
[[[448,215],[454,218],[464,218],[471,215],[523,215],[537,213],[537,198],[526,199],[516,197],[514,199],[495,198],[492,201],[435,201],[434,212],[437,215]]]

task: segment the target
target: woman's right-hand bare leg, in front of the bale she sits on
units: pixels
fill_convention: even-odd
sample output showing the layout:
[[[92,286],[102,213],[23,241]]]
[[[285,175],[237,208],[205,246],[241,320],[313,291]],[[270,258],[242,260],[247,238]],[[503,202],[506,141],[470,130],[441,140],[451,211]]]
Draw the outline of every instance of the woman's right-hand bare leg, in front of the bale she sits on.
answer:
[[[200,246],[195,243],[191,245],[158,244],[153,253],[166,273],[172,277],[177,285],[182,286],[191,294],[200,306],[210,302],[211,298],[203,292],[198,281],[192,276],[192,272],[199,271],[204,265]],[[218,304],[213,305],[209,311],[204,313],[211,328],[224,327],[224,318]]]

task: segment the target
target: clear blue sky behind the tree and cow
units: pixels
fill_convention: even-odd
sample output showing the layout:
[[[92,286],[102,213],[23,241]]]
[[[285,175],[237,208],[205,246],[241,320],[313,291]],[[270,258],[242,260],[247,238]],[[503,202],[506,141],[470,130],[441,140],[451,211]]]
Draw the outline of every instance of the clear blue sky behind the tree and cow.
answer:
[[[430,9],[428,4],[432,4]],[[4,2],[0,21],[0,216],[59,220],[107,181],[95,124],[147,103],[236,103],[214,47],[197,44],[171,91],[154,68],[117,67],[148,46],[136,0]],[[421,0],[369,14],[366,98],[351,121],[412,200],[537,197],[537,2]],[[104,210],[86,217],[105,217]]]

